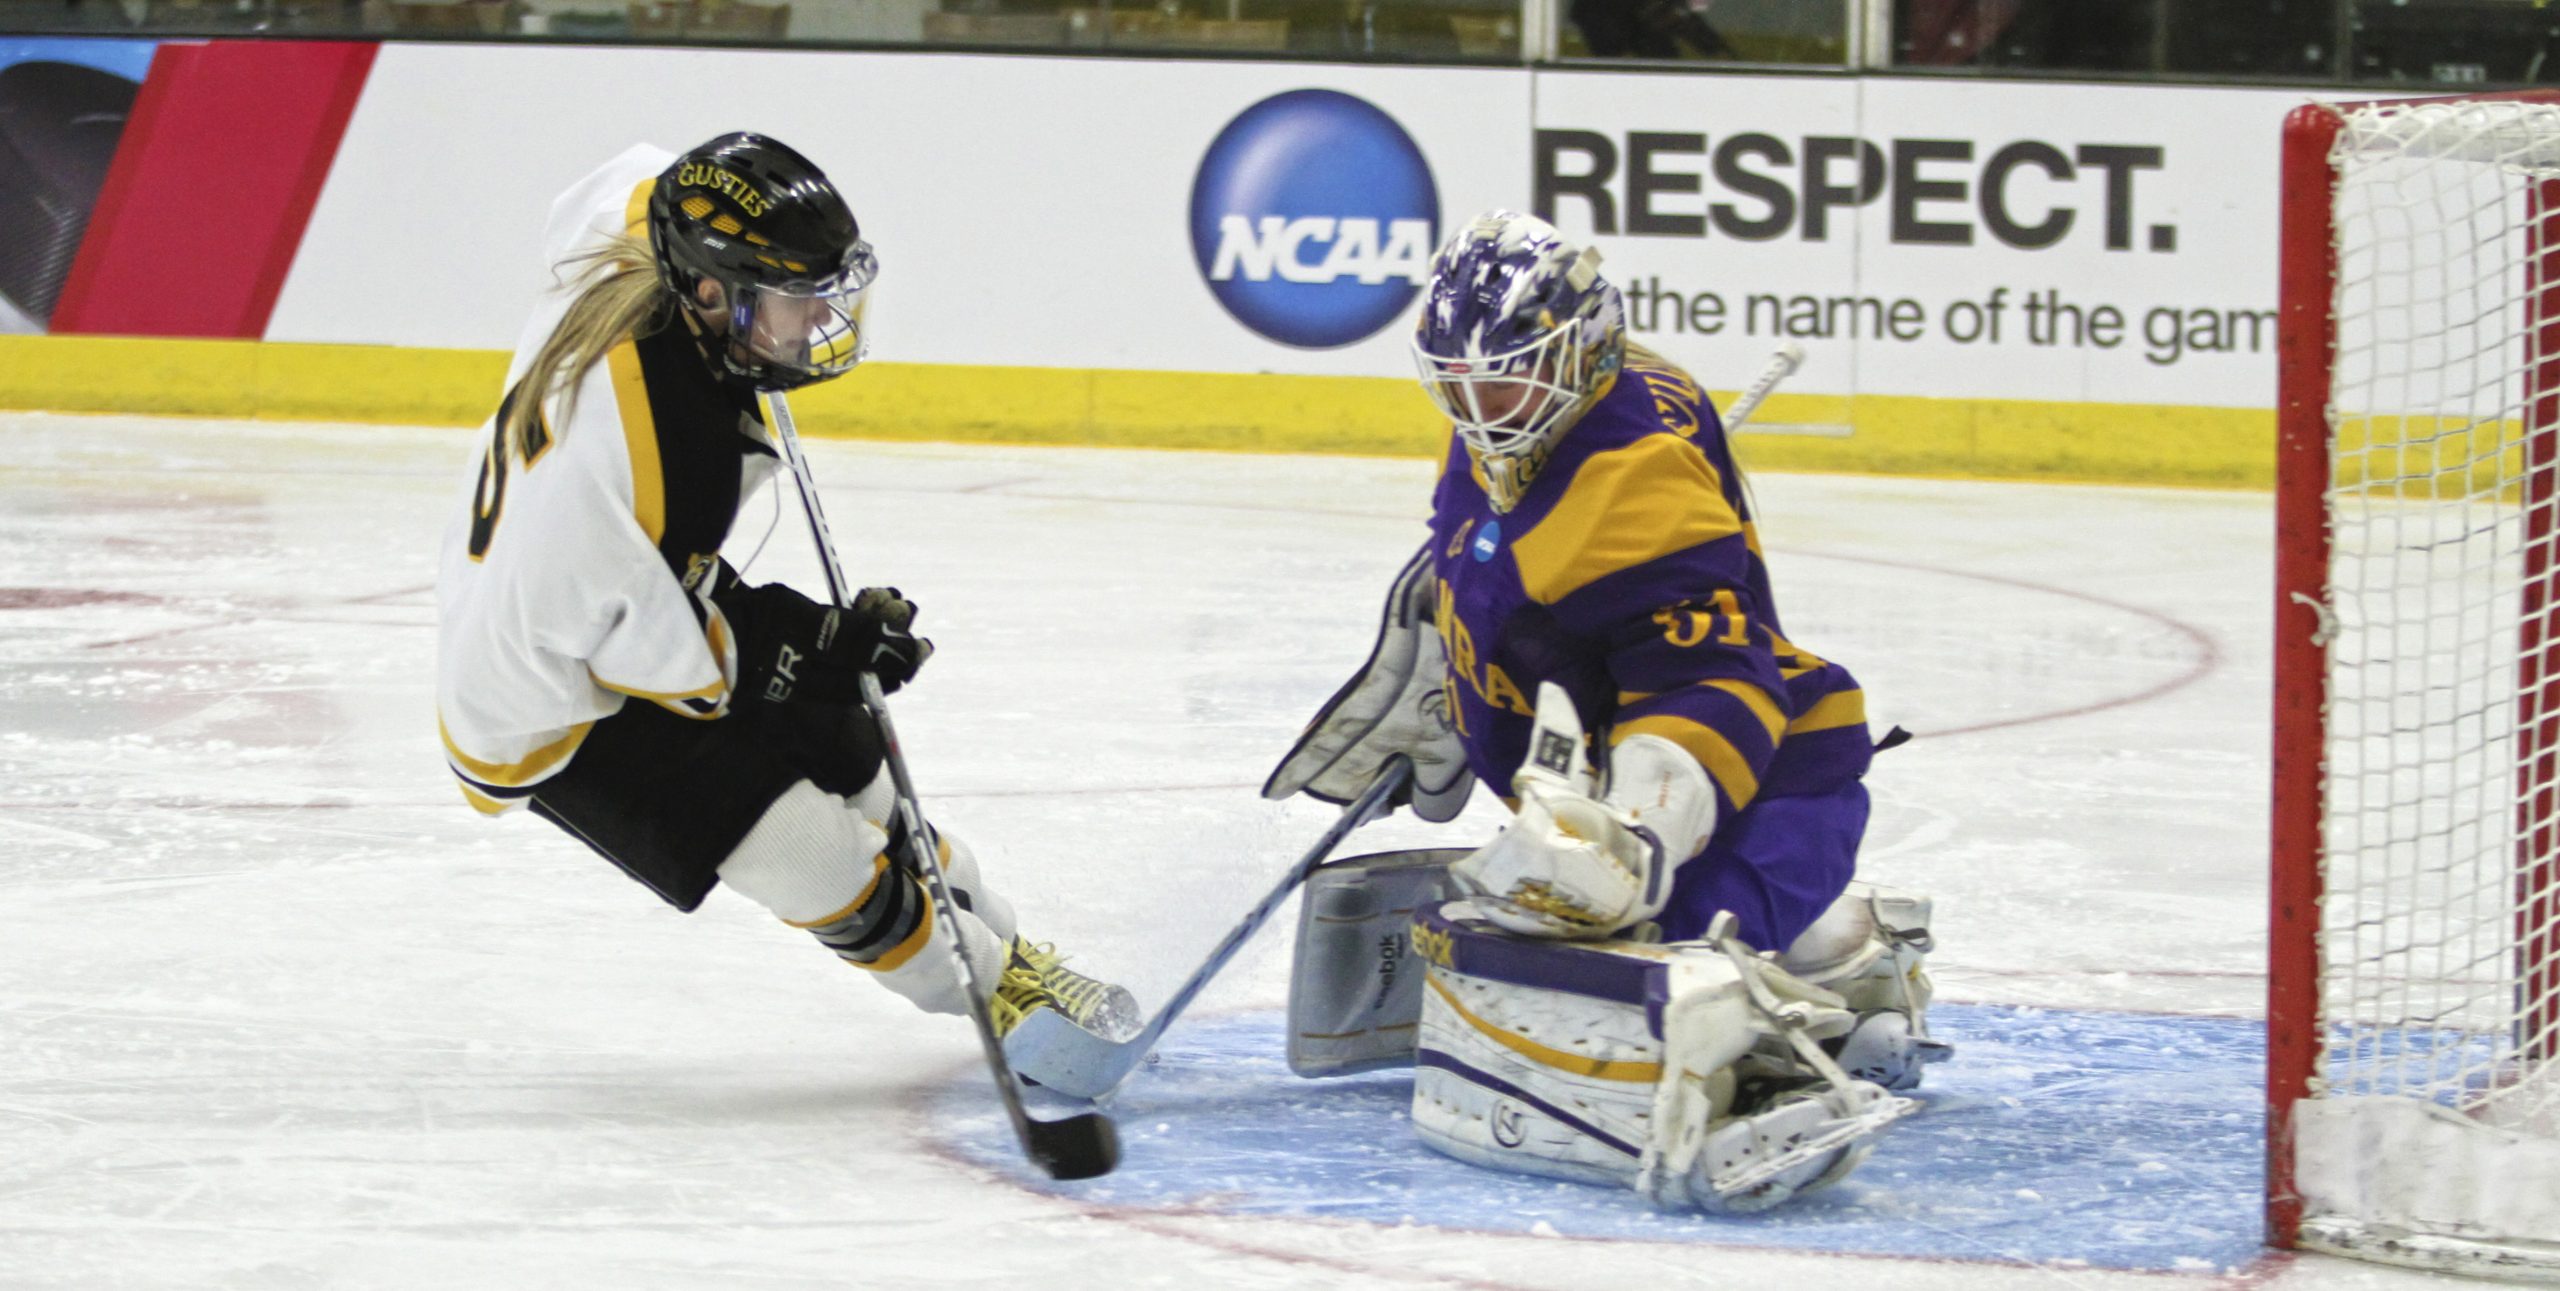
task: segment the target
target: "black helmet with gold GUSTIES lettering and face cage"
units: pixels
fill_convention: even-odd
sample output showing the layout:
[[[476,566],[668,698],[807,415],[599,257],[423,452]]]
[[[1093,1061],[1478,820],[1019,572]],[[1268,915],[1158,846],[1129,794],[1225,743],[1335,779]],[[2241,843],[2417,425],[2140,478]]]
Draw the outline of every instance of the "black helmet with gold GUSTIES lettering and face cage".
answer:
[[[781,141],[724,133],[676,159],[648,197],[658,274],[701,359],[755,389],[794,389],[863,361],[863,297],[881,272],[835,184]],[[719,284],[717,323],[701,284]]]

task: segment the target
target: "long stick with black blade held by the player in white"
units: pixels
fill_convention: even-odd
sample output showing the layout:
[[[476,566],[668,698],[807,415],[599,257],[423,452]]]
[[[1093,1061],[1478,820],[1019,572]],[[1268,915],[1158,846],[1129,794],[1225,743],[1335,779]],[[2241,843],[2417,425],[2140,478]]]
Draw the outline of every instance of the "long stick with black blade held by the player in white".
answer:
[[[850,610],[852,597],[845,589],[845,569],[835,558],[835,535],[827,533],[827,512],[817,502],[817,482],[809,479],[809,461],[799,451],[799,428],[791,423],[791,405],[781,394],[765,394],[765,400],[773,407],[773,438],[781,443],[783,464],[791,466],[791,479],[799,484],[801,512],[809,515],[809,540],[827,569],[827,599],[837,610]],[[906,861],[924,879],[924,889],[934,904],[934,922],[950,938],[952,968],[960,971],[960,994],[968,996],[968,1017],[978,1027],[978,1048],[986,1050],[986,1068],[996,1078],[996,1096],[1004,1099],[1004,1114],[1014,1122],[1021,1153],[1042,1171],[1050,1171],[1050,1178],[1111,1173],[1119,1165],[1119,1130],[1114,1130],[1111,1117],[1078,1112],[1044,1122],[1032,1119],[1032,1112],[1021,1107],[1021,1084],[1014,1078],[1014,1066],[1004,1058],[1004,1043],[996,1040],[996,1019],[988,1017],[986,994],[978,989],[978,971],[960,948],[960,917],[955,914],[960,907],[952,904],[950,879],[942,876],[942,861],[934,858],[934,848],[924,835],[924,812],[916,809],[916,781],[906,776],[906,753],[899,748],[899,727],[888,720],[888,704],[881,699],[881,679],[868,671],[860,676],[863,704],[870,710],[870,720],[878,722],[881,745],[888,756],[888,781],[899,789],[899,825],[906,830]],[[1055,1009],[1039,1009],[1039,1014],[1047,1012]]]

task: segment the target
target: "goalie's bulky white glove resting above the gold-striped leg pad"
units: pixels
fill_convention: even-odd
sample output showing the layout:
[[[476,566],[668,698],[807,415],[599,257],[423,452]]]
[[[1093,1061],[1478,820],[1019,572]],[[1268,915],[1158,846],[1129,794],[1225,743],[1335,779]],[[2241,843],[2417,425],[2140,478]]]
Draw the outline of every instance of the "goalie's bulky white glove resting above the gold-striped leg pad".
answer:
[[[1715,789],[1687,751],[1631,735],[1610,751],[1597,792],[1582,717],[1562,686],[1539,686],[1528,761],[1510,781],[1510,827],[1449,868],[1482,914],[1531,938],[1608,938],[1651,920],[1672,871],[1715,832]]]

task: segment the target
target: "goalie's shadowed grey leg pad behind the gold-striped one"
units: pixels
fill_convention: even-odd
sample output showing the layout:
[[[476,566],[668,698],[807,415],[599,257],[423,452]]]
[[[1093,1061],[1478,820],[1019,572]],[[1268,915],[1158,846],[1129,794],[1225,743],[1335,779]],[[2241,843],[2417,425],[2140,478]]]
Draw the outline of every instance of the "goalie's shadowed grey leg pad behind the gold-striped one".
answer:
[[[1413,912],[1449,897],[1464,848],[1334,861],[1306,881],[1288,978],[1288,1068],[1352,1076],[1413,1063],[1423,1014],[1423,961]]]

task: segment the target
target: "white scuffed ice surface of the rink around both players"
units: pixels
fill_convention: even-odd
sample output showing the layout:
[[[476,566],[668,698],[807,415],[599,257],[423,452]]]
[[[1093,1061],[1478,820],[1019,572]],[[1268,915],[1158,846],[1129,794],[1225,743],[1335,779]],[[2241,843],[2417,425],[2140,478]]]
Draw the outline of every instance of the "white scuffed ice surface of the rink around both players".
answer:
[[[540,820],[461,804],[433,735],[430,584],[474,435],[0,415],[0,443],[5,1288],[1984,1291],[2156,1286],[2127,1271],[2145,1260],[2248,1286],[2422,1281],[2322,1258],[2225,1273],[2250,1222],[2230,1199],[2127,1212],[2130,1237],[2071,1253],[2017,1237],[2063,1206],[2058,1186],[2020,1183],[2015,1214],[1969,1232],[1887,1158],[1825,1214],[1935,1214],[1943,1240],[1843,1242],[1848,1258],[1807,1250],[1805,1217],[1756,1242],[1628,1237],[1592,1227],[1623,1199],[1587,1189],[1531,1224],[1262,1214],[1144,1194],[1160,1140],[1137,1119],[1114,1181],[1129,1199],[1024,1186],[973,1155],[983,1104],[952,1019],[745,902],[678,917]],[[1329,820],[1254,786],[1367,651],[1431,466],[863,443],[812,459],[850,571],[911,592],[942,648],[896,699],[927,809],[1034,935],[1157,999]],[[1756,487],[1789,635],[1920,733],[1871,779],[1866,873],[1938,899],[1943,996],[2255,1017],[2268,499]],[[732,558],[771,515],[753,576],[814,587],[788,505],[758,499]],[[1490,822],[1485,804],[1449,827],[1398,817],[1357,848]],[[1201,1017],[1247,1027],[1283,991],[1265,935]],[[1137,1089],[1129,1109],[1234,1114],[1170,1107],[1183,1089]],[[2020,1153],[2033,1117],[1897,1135]],[[2079,1181],[2068,1219],[2104,1219],[2089,1189],[2166,1186],[2153,1176],[2202,1150],[2153,1158],[2166,1171]],[[1969,1245],[1984,1250],[1948,1255]]]

